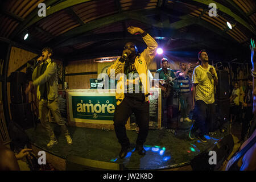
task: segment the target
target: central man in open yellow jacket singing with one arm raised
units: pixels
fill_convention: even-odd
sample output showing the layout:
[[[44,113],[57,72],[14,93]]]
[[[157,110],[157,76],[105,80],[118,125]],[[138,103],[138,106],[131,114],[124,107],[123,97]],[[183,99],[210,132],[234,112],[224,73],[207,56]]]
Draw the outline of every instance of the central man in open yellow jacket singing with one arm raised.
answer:
[[[147,67],[154,59],[158,47],[155,40],[141,28],[129,27],[127,31],[132,35],[141,34],[147,48],[141,54],[138,54],[137,47],[133,42],[126,43],[122,56],[108,69],[110,78],[116,76],[115,79],[118,79],[117,89],[115,90],[117,107],[114,113],[114,129],[122,147],[119,153],[121,159],[125,158],[130,147],[125,124],[133,113],[139,126],[136,150],[139,155],[146,154],[143,143],[146,141],[148,134],[150,116],[148,102],[150,83],[147,76]],[[127,85],[129,86],[127,87]]]

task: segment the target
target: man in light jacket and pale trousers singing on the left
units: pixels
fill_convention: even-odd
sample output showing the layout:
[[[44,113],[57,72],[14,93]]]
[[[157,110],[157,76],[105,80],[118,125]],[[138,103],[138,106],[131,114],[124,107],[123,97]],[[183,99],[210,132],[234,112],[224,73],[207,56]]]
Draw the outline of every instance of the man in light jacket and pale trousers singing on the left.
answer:
[[[43,48],[42,56],[38,58],[38,61],[42,61],[42,63],[39,63],[38,67],[34,69],[32,74],[33,82],[30,81],[25,91],[27,94],[33,86],[37,87],[36,94],[39,100],[40,121],[50,137],[47,147],[52,147],[54,144],[58,143],[47,119],[49,110],[52,111],[55,121],[60,125],[61,131],[65,134],[68,144],[72,144],[67,126],[65,126],[63,118],[61,118],[60,115],[59,104],[57,102],[57,65],[51,60],[51,56],[52,49],[49,47]]]

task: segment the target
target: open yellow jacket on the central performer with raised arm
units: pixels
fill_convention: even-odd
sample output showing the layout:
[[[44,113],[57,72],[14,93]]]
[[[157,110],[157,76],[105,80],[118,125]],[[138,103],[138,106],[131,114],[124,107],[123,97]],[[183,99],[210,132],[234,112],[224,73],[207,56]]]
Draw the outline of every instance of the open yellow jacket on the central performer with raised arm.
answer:
[[[148,93],[150,92],[150,82],[147,76],[147,67],[155,57],[158,43],[156,43],[155,40],[148,34],[143,36],[143,40],[147,44],[147,48],[144,49],[141,55],[135,58],[134,66],[139,74],[139,78],[141,79],[145,102],[147,102]],[[119,59],[120,57],[108,69],[109,77],[117,80],[117,88],[115,89],[117,105],[119,105],[123,98],[125,98],[125,61],[122,63],[119,61]]]

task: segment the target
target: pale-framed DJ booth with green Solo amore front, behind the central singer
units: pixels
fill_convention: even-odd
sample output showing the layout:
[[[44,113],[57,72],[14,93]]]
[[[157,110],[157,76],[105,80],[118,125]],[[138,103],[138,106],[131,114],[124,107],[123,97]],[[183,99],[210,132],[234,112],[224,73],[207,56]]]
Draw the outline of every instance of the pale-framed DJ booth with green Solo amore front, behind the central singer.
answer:
[[[114,129],[114,89],[67,89],[59,90],[60,108],[67,108],[68,125],[95,129]],[[65,101],[64,101],[65,100]],[[161,127],[161,90],[150,89],[150,127]],[[65,115],[65,112],[61,112]],[[126,129],[133,129],[134,115],[127,120]],[[135,123],[134,123],[135,124]]]

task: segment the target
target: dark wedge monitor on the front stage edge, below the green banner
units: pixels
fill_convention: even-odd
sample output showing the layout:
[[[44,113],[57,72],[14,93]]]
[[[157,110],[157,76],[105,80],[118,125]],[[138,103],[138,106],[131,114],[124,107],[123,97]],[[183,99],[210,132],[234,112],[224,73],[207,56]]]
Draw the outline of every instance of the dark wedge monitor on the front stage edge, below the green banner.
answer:
[[[68,155],[66,159],[67,171],[84,171],[84,170],[123,170],[123,164],[102,162],[80,158],[78,156]]]

